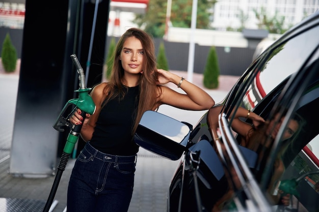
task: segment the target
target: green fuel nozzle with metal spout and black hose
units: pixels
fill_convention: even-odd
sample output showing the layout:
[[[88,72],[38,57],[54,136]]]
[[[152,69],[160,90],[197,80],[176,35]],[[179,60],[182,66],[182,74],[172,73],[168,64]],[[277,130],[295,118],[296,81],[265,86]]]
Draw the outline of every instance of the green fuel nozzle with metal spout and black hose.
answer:
[[[79,89],[74,90],[74,92],[78,93],[78,98],[77,99],[71,99],[69,100],[65,106],[63,107],[61,113],[58,116],[58,119],[56,123],[54,124],[54,129],[64,132],[64,127],[70,127],[71,130],[69,132],[69,135],[67,137],[63,153],[58,165],[58,170],[57,174],[54,180],[54,184],[52,185],[49,197],[46,201],[46,204],[44,206],[43,212],[48,212],[50,209],[50,206],[52,204],[52,201],[54,200],[54,197],[56,195],[60,179],[62,176],[63,171],[65,170],[66,164],[69,160],[69,157],[74,149],[75,143],[77,142],[79,133],[81,132],[82,124],[81,125],[71,125],[69,121],[69,117],[74,113],[74,111],[78,108],[81,109],[82,117],[83,119],[86,117],[86,114],[89,113],[92,115],[95,112],[96,106],[89,95],[89,90],[91,88],[87,88],[85,85],[85,76],[84,76],[84,71],[81,67],[81,65],[78,62],[78,59],[75,54],[71,55],[71,58],[73,60],[73,63],[75,65],[76,71],[78,73],[78,80],[79,80]],[[69,108],[69,106],[75,106],[71,113],[67,115],[67,117],[64,117],[64,113],[66,110]]]

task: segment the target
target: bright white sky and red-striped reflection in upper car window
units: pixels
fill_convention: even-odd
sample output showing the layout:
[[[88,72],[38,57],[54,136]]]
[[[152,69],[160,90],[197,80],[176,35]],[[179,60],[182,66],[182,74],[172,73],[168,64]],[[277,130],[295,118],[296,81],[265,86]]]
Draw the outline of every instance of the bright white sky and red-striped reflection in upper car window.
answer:
[[[278,46],[270,53],[262,66],[253,67],[258,72],[252,83],[245,85],[247,90],[243,101],[247,109],[252,110],[271,90],[304,65],[306,58],[319,43],[318,31],[318,28],[314,28]],[[310,40],[313,42],[309,42]],[[245,81],[249,81],[251,77],[247,76]]]

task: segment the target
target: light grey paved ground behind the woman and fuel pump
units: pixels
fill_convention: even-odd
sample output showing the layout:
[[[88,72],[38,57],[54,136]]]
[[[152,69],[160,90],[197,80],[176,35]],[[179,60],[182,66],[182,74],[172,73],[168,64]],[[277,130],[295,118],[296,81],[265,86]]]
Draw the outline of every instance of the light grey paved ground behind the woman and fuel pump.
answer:
[[[187,72],[174,71],[174,73],[188,79]],[[206,91],[216,102],[220,102],[237,79],[238,77],[220,76],[220,87]],[[5,74],[0,68],[0,212],[42,211],[55,179],[55,176],[26,178],[9,173],[18,80],[17,73]],[[192,81],[202,87],[202,75],[194,74]],[[195,125],[206,111],[184,111],[161,106],[158,112]],[[167,189],[179,161],[158,157],[144,149],[140,149],[138,155],[135,189],[129,212],[166,211]],[[67,184],[73,164],[74,159],[70,159],[62,174],[55,195],[57,201],[54,203],[57,204],[53,212],[61,212],[65,209]]]

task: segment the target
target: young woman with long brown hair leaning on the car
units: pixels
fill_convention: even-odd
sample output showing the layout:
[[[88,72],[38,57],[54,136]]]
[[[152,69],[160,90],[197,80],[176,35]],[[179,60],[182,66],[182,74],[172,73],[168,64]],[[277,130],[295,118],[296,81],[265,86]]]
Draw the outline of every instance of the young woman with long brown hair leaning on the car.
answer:
[[[146,110],[167,104],[206,110],[214,100],[204,90],[165,70],[156,69],[152,38],[138,28],[120,38],[111,79],[92,89],[96,112],[83,120],[80,110],[70,117],[82,124],[87,141],[77,157],[68,187],[67,211],[127,211],[134,187],[138,145],[133,136]],[[185,94],[163,86],[172,82]]]

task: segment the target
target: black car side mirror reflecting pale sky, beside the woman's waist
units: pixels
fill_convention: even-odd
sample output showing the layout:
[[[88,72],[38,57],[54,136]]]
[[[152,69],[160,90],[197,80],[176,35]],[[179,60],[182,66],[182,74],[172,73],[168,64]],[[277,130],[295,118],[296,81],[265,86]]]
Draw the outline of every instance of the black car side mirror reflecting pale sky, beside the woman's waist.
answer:
[[[145,111],[134,135],[135,142],[150,152],[176,161],[190,138],[190,127],[155,111]]]

